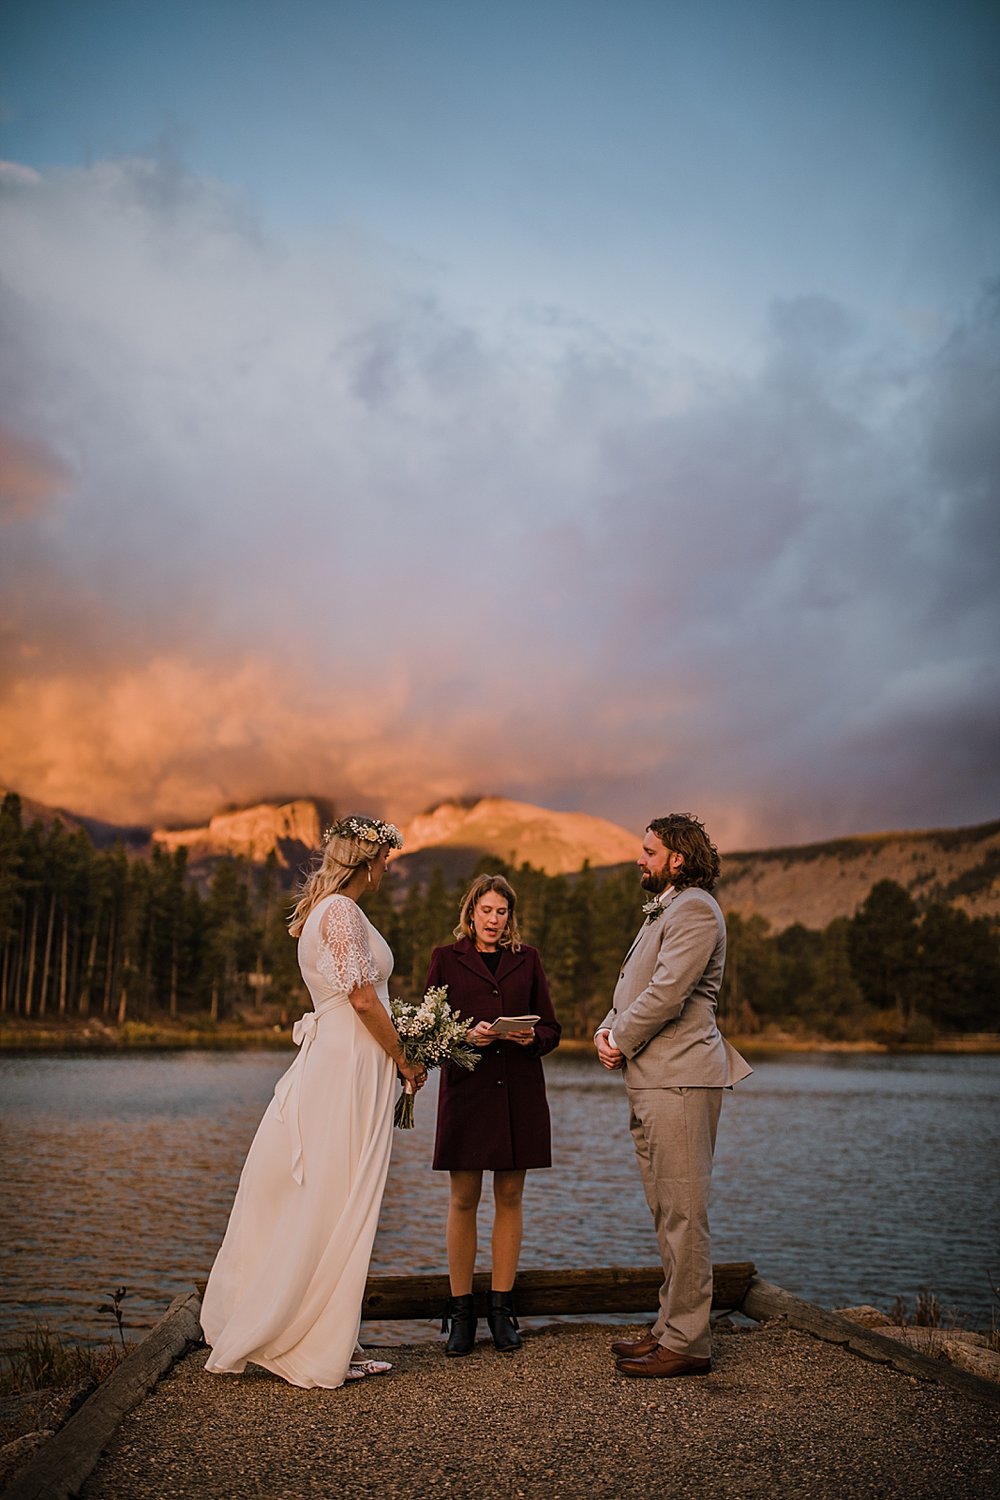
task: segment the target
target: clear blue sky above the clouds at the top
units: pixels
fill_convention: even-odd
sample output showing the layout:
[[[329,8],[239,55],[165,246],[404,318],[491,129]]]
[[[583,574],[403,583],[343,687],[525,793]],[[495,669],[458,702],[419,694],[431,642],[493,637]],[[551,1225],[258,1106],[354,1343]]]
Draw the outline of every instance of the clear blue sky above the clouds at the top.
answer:
[[[9,158],[166,153],[498,318],[745,354],[792,290],[909,333],[996,267],[987,4],[6,9]]]

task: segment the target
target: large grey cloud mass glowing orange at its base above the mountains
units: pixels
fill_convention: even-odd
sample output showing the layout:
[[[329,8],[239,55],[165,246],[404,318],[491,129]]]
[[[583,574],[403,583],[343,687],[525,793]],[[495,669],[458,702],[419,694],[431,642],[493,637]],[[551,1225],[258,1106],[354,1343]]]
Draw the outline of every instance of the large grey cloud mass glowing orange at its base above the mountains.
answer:
[[[6,783],[489,789],[729,848],[996,816],[996,291],[888,350],[793,288],[757,368],[666,363],[499,344],[177,166],[9,177]]]

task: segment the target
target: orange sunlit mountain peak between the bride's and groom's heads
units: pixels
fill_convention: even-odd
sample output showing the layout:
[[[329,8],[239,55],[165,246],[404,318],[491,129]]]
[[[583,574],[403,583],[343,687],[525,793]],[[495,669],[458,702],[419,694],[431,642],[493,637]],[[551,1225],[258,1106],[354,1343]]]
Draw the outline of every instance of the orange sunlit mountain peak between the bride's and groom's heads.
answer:
[[[405,854],[420,849],[478,849],[517,867],[531,864],[546,874],[570,874],[585,862],[622,864],[634,860],[642,834],[589,813],[555,813],[531,802],[483,796],[474,804],[441,802],[403,830]]]

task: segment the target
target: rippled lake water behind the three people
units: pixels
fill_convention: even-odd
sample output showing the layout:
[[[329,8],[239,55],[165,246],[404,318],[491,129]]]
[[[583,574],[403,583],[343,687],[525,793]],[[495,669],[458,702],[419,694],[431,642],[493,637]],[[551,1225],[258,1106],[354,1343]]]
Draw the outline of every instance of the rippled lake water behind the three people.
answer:
[[[139,1330],[204,1280],[288,1062],[256,1052],[0,1059],[0,1332],[42,1322],[106,1335],[97,1305],[120,1284]],[[529,1174],[522,1264],[655,1264],[621,1080],[573,1054],[546,1070],[555,1166]],[[417,1101],[417,1130],[396,1132],[373,1270],[445,1269],[433,1090]],[[966,1323],[988,1326],[999,1106],[1000,1058],[759,1062],[723,1108],[714,1258],[754,1260],[825,1306],[889,1306],[930,1287]],[[394,1332],[424,1336],[432,1324]]]

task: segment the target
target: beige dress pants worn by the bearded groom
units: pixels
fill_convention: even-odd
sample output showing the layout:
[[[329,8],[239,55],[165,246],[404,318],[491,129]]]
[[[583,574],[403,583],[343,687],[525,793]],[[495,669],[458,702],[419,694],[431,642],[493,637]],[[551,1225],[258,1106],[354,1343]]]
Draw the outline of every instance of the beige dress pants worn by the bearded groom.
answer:
[[[721,1089],[628,1089],[630,1130],[663,1262],[660,1342],[690,1359],[711,1359],[712,1184]]]

